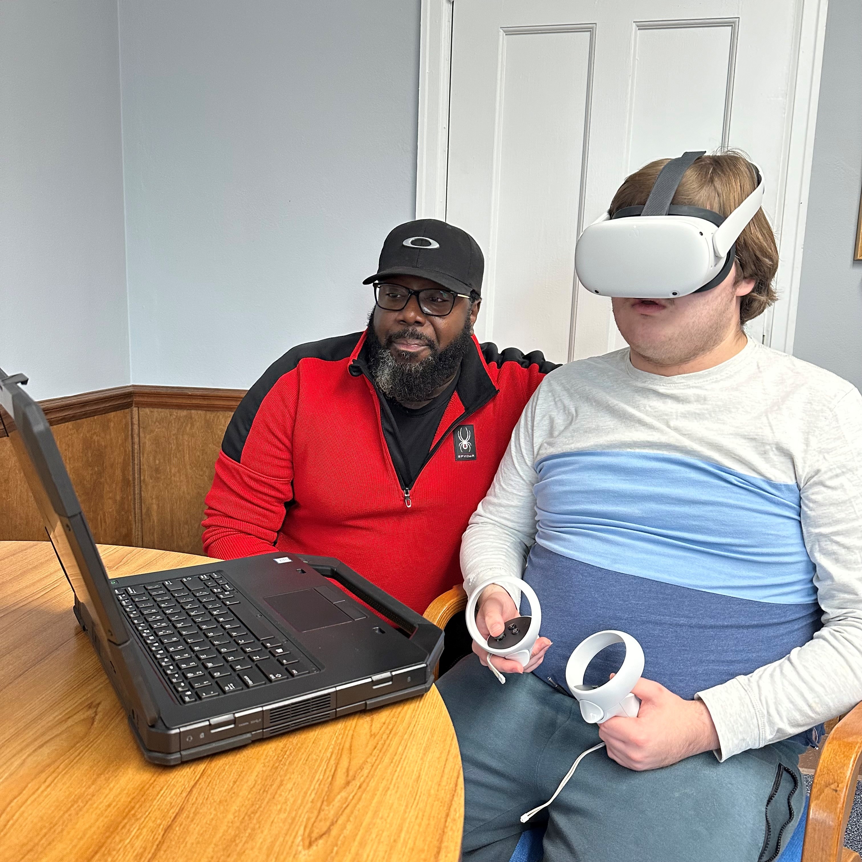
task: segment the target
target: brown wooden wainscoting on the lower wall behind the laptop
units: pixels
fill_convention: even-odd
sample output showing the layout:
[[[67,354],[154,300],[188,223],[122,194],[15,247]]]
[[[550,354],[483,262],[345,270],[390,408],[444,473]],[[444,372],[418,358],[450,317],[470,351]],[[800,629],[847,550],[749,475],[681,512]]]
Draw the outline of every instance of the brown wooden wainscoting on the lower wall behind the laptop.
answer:
[[[203,553],[203,497],[244,394],[133,385],[41,403],[97,542]],[[2,437],[0,540],[44,538]]]

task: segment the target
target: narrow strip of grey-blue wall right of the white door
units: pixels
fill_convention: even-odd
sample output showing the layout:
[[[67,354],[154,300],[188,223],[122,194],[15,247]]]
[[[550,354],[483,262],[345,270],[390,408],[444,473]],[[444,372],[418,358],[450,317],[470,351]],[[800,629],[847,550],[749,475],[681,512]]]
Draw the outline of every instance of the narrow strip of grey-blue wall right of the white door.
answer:
[[[793,353],[862,389],[862,3],[829,0]]]

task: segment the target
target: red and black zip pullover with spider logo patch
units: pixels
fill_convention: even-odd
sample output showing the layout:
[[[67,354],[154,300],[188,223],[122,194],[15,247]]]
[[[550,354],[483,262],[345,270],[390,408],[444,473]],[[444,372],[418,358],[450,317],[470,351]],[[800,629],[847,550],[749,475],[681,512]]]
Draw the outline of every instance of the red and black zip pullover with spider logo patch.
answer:
[[[337,557],[422,613],[461,582],[461,535],[529,397],[557,366],[474,337],[408,484],[364,344],[362,332],[294,347],[248,390],[215,462],[203,548],[220,559],[273,547]]]

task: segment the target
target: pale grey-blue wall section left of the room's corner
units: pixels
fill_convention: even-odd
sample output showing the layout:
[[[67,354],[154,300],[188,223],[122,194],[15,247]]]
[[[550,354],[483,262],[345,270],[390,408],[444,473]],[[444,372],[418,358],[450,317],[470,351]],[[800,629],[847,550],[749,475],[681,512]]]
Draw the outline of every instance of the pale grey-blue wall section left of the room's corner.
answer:
[[[116,0],[0,3],[0,366],[128,384]]]

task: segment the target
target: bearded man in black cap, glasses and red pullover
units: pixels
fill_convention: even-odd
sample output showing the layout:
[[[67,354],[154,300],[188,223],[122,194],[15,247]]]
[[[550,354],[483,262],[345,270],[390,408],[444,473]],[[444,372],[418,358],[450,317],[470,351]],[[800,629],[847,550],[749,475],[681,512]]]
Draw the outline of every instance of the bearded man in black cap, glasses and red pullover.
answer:
[[[203,547],[325,554],[422,613],[461,582],[461,534],[555,365],[472,334],[482,251],[446,222],[386,237],[364,332],[294,347],[222,441]]]

